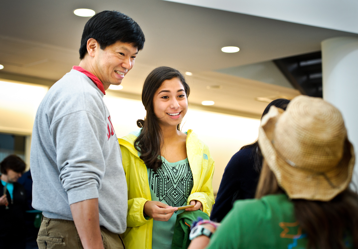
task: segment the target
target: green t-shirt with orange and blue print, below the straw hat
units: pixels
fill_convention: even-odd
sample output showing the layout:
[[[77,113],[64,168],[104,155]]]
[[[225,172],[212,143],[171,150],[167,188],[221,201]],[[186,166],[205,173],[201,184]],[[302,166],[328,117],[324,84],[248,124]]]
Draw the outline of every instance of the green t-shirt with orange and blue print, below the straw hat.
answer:
[[[285,194],[239,200],[222,220],[207,249],[306,249],[294,205]],[[352,243],[345,243],[353,248]]]

